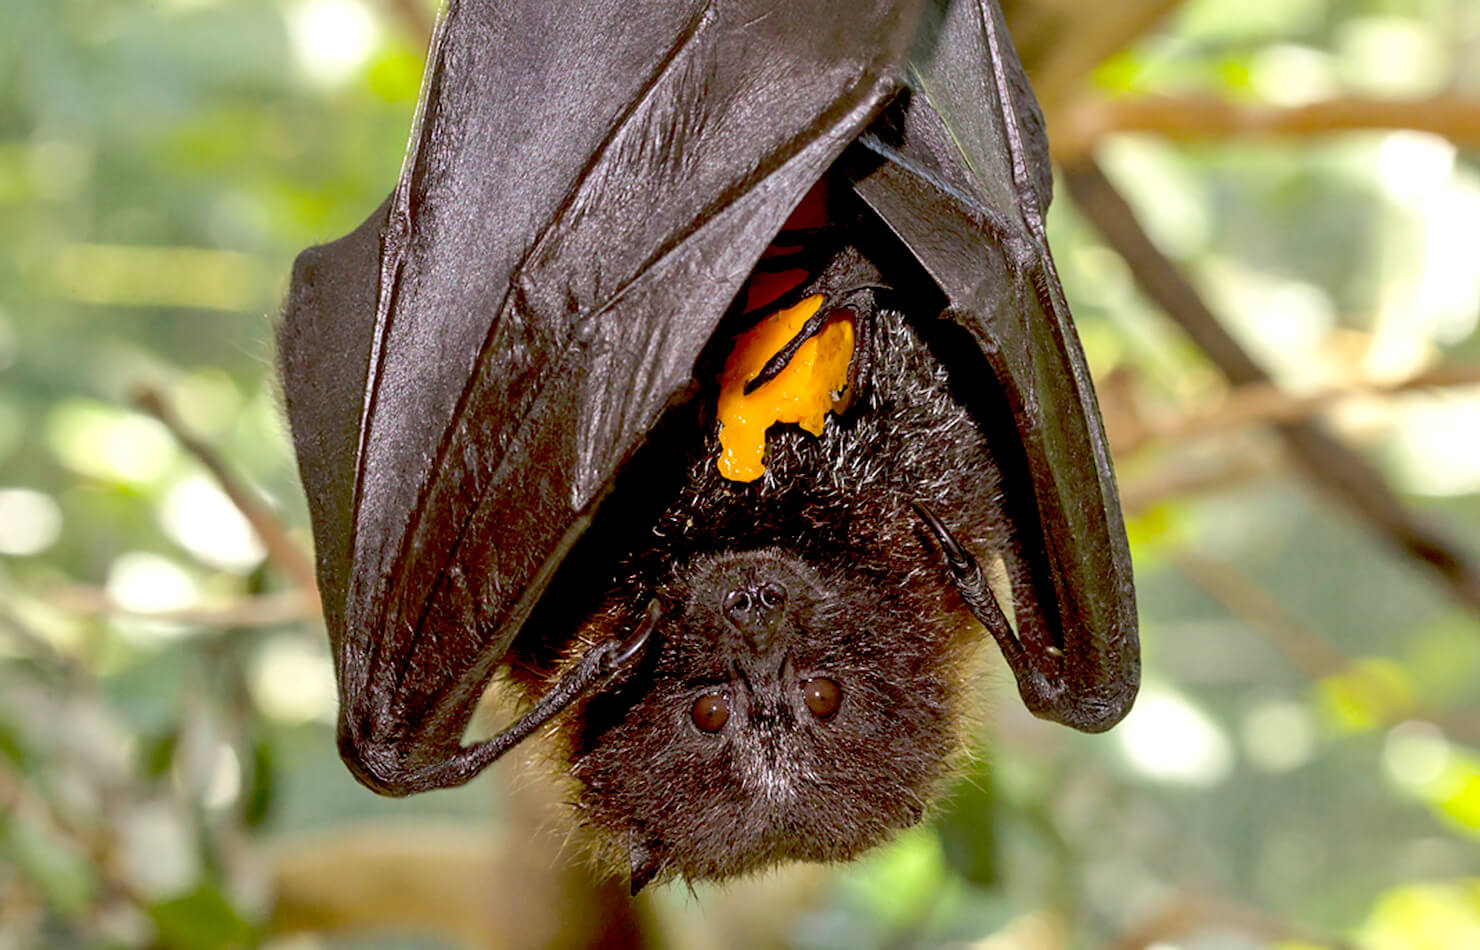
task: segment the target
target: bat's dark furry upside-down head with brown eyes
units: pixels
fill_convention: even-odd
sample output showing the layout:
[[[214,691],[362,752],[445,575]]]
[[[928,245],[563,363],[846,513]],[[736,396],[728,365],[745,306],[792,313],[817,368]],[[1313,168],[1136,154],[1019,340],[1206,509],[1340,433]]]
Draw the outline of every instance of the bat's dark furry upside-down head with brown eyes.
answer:
[[[968,638],[921,633],[938,607],[780,548],[696,556],[660,599],[648,663],[570,734],[582,820],[633,889],[847,860],[921,820],[962,744]]]

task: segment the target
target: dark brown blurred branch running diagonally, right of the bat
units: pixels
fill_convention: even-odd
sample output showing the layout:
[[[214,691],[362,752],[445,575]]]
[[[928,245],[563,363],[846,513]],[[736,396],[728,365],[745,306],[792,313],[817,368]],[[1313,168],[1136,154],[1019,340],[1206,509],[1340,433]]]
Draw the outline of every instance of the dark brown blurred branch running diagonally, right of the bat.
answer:
[[[1181,326],[1230,383],[1270,383],[1268,373],[1218,323],[1177,265],[1151,243],[1131,206],[1092,160],[1066,166],[1064,182],[1080,212],[1125,259],[1141,292]],[[1339,500],[1400,552],[1428,565],[1455,599],[1480,614],[1480,570],[1470,555],[1410,512],[1376,468],[1316,423],[1282,422],[1274,429],[1316,487]]]

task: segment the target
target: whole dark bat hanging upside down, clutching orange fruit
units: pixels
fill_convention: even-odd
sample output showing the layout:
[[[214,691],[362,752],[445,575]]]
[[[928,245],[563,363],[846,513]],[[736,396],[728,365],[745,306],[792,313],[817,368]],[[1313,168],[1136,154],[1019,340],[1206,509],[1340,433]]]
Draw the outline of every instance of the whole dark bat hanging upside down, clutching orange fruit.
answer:
[[[1125,716],[1051,188],[996,0],[451,0],[278,329],[355,777],[548,727],[635,894],[919,821],[983,629],[1033,713]],[[465,738],[494,678],[521,715]]]

